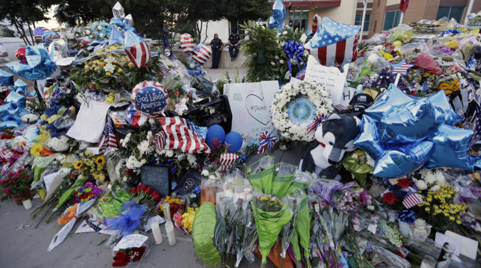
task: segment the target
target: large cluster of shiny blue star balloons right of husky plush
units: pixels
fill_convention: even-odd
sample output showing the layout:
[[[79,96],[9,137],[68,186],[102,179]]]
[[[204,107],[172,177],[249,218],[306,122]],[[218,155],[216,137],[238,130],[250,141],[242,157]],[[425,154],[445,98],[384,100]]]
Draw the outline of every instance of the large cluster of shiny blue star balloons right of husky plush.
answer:
[[[373,174],[378,177],[402,177],[422,166],[472,170],[468,152],[474,132],[453,127],[460,121],[444,91],[416,98],[391,84],[365,110],[354,144],[376,161]]]

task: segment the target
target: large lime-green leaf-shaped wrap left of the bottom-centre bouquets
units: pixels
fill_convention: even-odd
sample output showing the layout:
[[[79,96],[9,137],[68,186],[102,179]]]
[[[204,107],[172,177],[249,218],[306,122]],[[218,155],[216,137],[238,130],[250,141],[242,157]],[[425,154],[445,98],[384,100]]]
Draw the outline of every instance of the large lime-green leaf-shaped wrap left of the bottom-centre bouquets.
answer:
[[[221,255],[214,245],[214,231],[216,227],[216,207],[211,202],[204,202],[199,207],[192,225],[194,249],[199,258],[207,265],[217,265]]]

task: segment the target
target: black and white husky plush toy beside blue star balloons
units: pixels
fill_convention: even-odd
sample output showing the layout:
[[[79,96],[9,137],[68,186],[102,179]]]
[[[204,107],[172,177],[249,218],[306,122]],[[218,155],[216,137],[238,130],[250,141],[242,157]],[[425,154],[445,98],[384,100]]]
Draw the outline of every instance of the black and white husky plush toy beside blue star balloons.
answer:
[[[314,138],[300,160],[299,167],[330,179],[341,180],[335,164],[341,161],[345,152],[354,151],[354,139],[360,131],[361,120],[345,114],[331,114],[324,123],[317,126]]]

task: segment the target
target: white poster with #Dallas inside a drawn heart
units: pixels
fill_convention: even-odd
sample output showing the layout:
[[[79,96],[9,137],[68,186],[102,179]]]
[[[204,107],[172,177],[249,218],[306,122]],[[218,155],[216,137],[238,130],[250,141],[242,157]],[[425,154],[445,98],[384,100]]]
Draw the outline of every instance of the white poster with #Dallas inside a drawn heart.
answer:
[[[277,136],[271,121],[270,105],[278,90],[277,81],[224,85],[224,94],[233,111],[232,131],[242,136],[242,147],[259,144],[259,136],[264,131]]]

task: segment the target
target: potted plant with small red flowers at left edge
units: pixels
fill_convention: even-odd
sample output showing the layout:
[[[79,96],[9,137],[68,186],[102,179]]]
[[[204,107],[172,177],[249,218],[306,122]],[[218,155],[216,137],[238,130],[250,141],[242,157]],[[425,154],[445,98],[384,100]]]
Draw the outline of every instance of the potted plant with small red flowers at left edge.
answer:
[[[32,169],[20,168],[15,172],[7,173],[6,178],[0,180],[0,187],[4,189],[4,193],[6,194],[2,200],[7,199],[9,194],[17,205],[22,205],[22,200],[24,198],[28,197],[32,199],[30,184],[33,179],[34,176]]]

